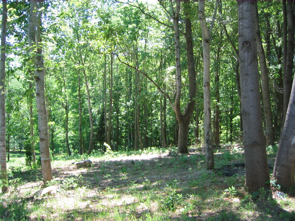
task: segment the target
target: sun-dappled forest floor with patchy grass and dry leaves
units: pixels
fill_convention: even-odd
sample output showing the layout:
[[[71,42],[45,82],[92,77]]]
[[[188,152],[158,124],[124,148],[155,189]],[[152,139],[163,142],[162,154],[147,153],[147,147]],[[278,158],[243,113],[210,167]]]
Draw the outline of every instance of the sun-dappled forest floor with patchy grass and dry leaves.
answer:
[[[268,148],[270,164],[275,150]],[[224,145],[214,155],[215,168],[243,162],[239,145]],[[206,170],[197,147],[186,155],[162,150],[89,156],[91,167],[80,169],[71,164],[73,157],[56,159],[50,185],[58,192],[42,197],[33,196],[42,188],[41,171],[19,168],[21,159],[8,162],[10,189],[0,196],[4,221],[295,220],[293,193],[272,188],[257,192],[254,200],[244,190],[245,177]]]

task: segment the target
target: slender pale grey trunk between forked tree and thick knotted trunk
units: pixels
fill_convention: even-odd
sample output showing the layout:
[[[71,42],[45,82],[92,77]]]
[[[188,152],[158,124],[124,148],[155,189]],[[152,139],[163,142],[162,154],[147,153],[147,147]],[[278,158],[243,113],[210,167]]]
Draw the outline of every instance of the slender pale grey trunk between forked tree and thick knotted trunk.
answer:
[[[210,100],[210,36],[205,18],[205,1],[199,1],[199,20],[203,36],[203,60],[204,60],[204,131],[207,169],[213,169],[213,144],[211,126],[211,100]]]

